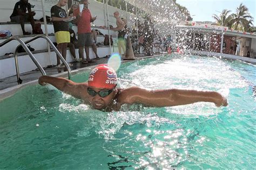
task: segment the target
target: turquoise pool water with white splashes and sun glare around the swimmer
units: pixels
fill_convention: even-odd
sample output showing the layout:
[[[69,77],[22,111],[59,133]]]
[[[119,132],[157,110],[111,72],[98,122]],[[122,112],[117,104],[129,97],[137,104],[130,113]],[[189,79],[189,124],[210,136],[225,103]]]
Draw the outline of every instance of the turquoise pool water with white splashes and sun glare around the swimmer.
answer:
[[[0,103],[0,169],[253,169],[255,72],[241,61],[173,55],[118,70],[121,88],[217,90],[228,98],[225,108],[124,105],[102,112],[52,86],[27,87]]]

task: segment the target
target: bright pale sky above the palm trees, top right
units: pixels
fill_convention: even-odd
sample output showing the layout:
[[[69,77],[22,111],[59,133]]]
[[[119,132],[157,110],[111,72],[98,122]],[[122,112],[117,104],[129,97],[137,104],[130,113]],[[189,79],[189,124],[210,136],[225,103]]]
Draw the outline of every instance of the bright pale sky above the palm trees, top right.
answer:
[[[210,22],[214,22],[213,14],[219,15],[223,9],[234,13],[237,6],[242,3],[249,9],[254,18],[253,25],[256,26],[256,0],[177,0],[176,2],[190,11],[190,16],[194,21]]]

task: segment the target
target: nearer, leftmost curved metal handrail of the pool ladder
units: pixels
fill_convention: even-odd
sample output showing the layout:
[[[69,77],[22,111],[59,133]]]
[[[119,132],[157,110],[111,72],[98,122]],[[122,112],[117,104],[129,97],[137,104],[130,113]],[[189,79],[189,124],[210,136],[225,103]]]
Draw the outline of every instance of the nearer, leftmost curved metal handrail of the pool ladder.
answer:
[[[44,69],[42,68],[42,66],[38,63],[38,61],[36,60],[35,56],[33,56],[31,51],[29,50],[29,48],[26,46],[26,44],[24,43],[24,41],[21,38],[10,37],[10,38],[6,39],[5,41],[1,42],[0,43],[0,47],[4,46],[5,44],[8,44],[12,40],[16,40],[16,41],[19,42],[20,45],[18,45],[18,47],[22,46],[25,49],[25,52],[28,53],[28,55],[30,56],[31,60],[35,63],[37,68],[40,70],[40,72],[43,75],[46,75],[46,73],[45,73]],[[17,74],[17,82],[18,82],[18,84],[20,84],[22,82],[22,80],[19,78],[18,55],[17,55],[18,47],[15,50],[14,58],[15,58],[15,68],[16,68],[16,74]]]

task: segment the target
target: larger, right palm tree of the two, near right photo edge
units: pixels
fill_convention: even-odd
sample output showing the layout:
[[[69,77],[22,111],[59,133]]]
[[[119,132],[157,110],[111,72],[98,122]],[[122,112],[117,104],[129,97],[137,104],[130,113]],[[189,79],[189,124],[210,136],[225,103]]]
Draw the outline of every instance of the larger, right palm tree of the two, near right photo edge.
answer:
[[[253,17],[248,12],[248,8],[242,3],[238,6],[236,13],[232,14],[231,23],[235,30],[247,31],[250,29]]]

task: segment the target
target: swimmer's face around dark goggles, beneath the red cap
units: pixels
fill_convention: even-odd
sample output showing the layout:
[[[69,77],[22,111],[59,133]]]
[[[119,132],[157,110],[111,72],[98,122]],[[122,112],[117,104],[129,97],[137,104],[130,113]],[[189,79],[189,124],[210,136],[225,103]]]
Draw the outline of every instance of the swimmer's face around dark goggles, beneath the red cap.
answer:
[[[89,89],[91,91],[93,90],[95,92],[108,91],[109,90],[109,89],[96,88],[96,87],[89,87]],[[113,89],[113,91],[105,97],[100,97],[99,94],[97,94],[95,96],[91,96],[89,94],[89,101],[92,104],[92,107],[95,108],[95,109],[98,109],[98,110],[106,109],[110,104],[112,104],[114,96],[116,94],[117,94],[117,89]]]

